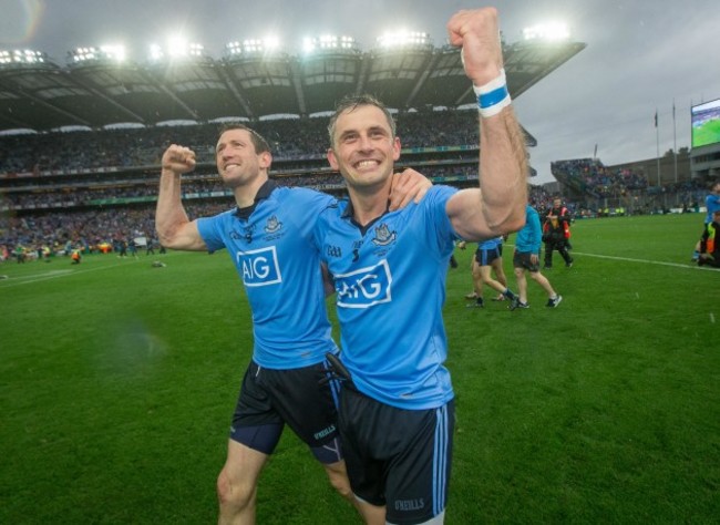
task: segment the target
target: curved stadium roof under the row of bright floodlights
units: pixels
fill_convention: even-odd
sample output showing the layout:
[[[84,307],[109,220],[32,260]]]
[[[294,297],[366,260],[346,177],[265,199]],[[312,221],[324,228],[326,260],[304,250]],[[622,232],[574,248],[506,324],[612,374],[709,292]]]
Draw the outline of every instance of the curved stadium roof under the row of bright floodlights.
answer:
[[[505,45],[512,96],[520,96],[585,45],[542,41]],[[0,132],[304,116],[332,110],[349,93],[372,93],[400,111],[474,102],[460,52],[450,47],[335,49],[219,60],[189,56],[147,64],[91,60],[64,68],[45,60],[0,63]]]

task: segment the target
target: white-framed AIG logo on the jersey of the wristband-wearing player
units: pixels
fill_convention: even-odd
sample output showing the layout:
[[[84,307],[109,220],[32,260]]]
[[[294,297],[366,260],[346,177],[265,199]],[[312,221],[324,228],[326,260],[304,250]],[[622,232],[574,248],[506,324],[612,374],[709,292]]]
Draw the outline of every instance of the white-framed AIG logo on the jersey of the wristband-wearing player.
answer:
[[[387,260],[376,266],[362,268],[350,274],[335,276],[338,306],[344,308],[370,308],[390,302],[392,275]]]

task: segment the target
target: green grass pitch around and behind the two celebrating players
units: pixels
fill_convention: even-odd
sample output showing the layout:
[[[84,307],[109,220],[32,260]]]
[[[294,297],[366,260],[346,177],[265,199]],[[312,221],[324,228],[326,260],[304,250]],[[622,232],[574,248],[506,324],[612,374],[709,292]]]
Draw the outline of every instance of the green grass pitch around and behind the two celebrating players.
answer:
[[[446,523],[718,523],[720,271],[690,264],[701,227],[699,214],[578,220],[575,266],[545,272],[557,309],[532,281],[528,310],[466,309],[473,250],[456,251]],[[216,522],[253,333],[227,254],[0,275],[0,523]],[[286,432],[258,523],[360,521]]]

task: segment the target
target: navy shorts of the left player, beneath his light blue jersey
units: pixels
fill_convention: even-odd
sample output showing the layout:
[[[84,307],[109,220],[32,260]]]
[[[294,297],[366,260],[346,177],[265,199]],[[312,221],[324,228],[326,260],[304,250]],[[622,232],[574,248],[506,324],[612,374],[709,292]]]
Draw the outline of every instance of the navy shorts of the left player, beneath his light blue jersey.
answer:
[[[342,460],[337,424],[339,384],[326,379],[327,361],[290,370],[266,369],[250,361],[230,439],[271,454],[287,424],[322,463]]]

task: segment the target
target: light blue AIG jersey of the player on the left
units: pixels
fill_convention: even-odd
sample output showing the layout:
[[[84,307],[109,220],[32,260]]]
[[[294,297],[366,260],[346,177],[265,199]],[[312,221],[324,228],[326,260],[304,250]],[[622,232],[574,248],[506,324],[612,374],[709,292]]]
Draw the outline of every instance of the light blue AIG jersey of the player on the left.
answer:
[[[269,369],[315,364],[337,351],[325,307],[313,220],[335,199],[267,183],[248,217],[238,209],[200,218],[210,253],[227,248],[253,310],[253,360]]]

